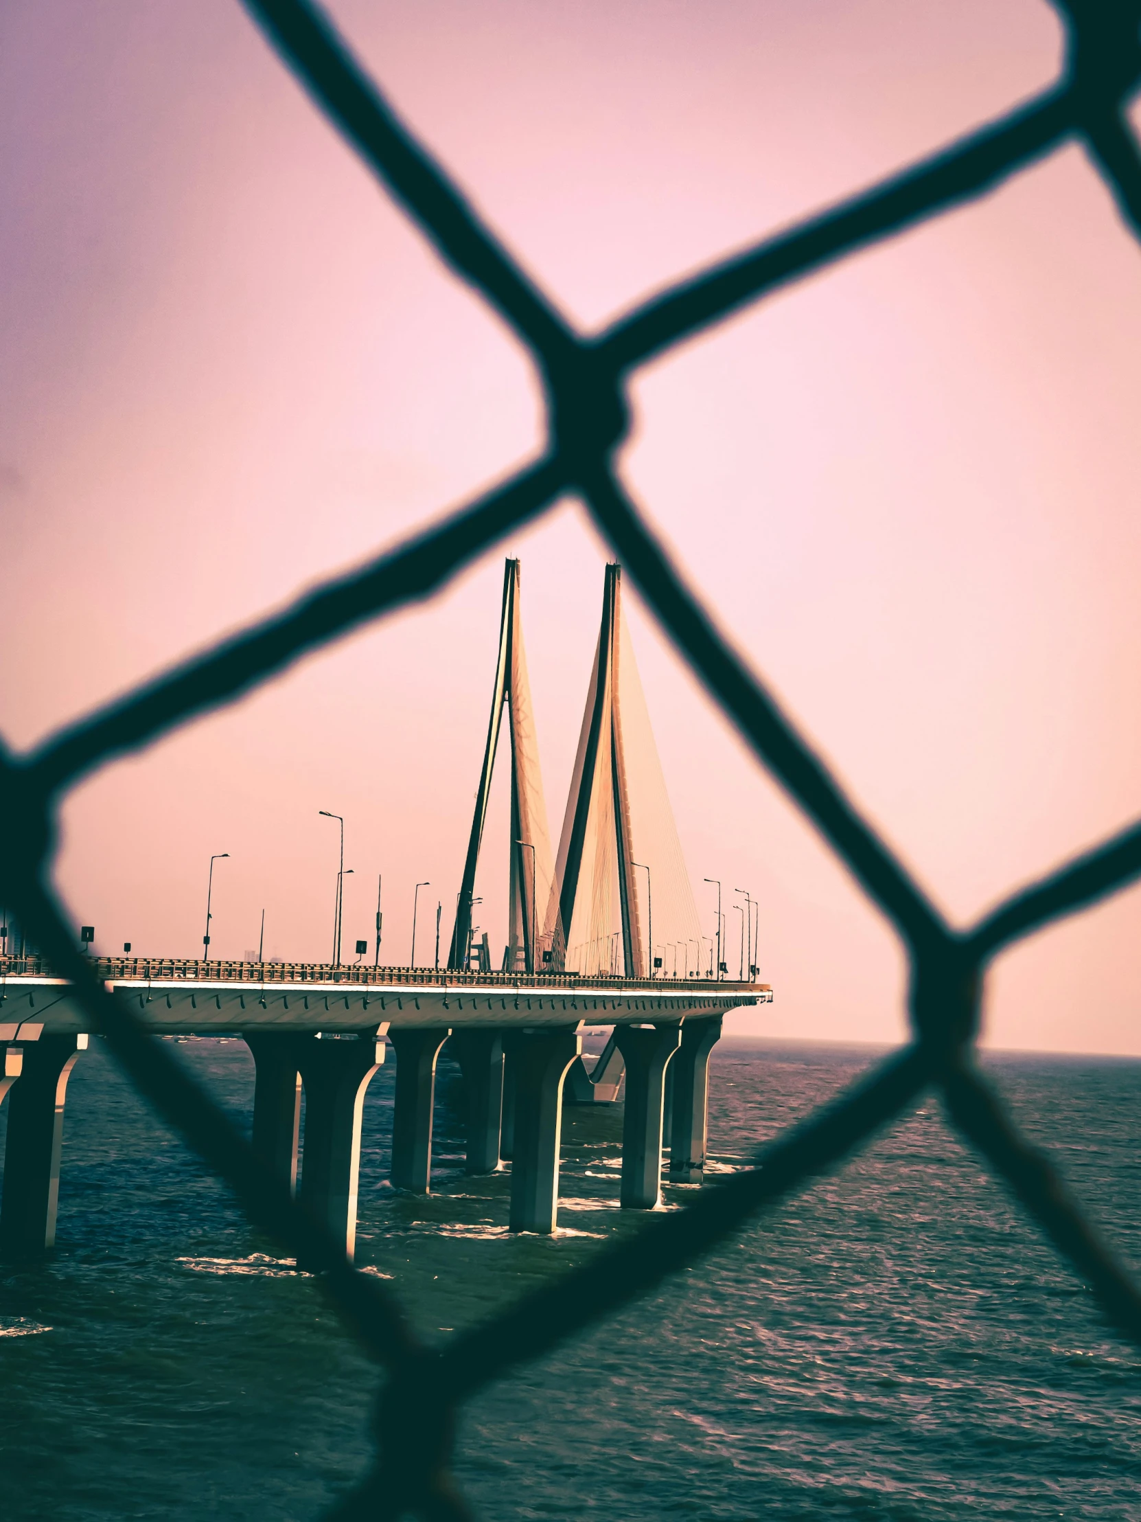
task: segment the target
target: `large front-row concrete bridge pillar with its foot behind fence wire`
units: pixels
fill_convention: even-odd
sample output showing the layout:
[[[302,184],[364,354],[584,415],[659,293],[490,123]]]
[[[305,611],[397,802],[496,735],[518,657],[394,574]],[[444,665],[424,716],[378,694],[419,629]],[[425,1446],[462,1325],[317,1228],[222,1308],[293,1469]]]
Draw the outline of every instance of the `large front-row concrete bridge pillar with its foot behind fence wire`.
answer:
[[[385,1059],[379,1036],[301,1038],[295,1047],[306,1088],[301,1204],[335,1237],[351,1262],[356,1247],[356,1190],[361,1173],[361,1114],[365,1090]]]

